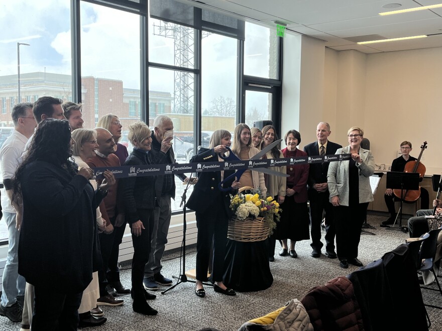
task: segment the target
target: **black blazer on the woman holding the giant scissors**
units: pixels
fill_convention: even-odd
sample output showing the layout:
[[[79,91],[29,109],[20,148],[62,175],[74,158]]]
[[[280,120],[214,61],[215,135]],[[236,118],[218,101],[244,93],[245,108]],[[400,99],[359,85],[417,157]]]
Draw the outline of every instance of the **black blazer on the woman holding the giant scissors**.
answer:
[[[190,162],[216,162],[218,161],[218,155],[212,149],[201,147],[198,150],[198,154],[190,159]],[[234,174],[234,170],[224,171],[224,178]],[[218,189],[218,184],[221,182],[221,173],[216,172],[204,172],[198,174],[198,182],[193,188],[193,192],[190,195],[187,202],[187,208],[194,210],[198,213],[204,213],[209,210],[215,203],[222,203],[226,209],[229,218],[232,216],[230,210],[230,194],[236,194],[237,190],[229,192],[222,192]],[[231,186],[234,180],[225,183],[225,186]]]

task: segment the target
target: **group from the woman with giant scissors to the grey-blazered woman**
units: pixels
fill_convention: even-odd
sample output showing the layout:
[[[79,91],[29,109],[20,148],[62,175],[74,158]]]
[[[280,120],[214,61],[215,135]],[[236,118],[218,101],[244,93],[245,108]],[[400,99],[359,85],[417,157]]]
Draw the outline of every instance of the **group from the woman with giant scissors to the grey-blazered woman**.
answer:
[[[328,141],[330,133],[329,124],[320,122],[316,128],[317,141],[307,144],[302,151],[297,148],[301,142],[300,133],[289,130],[284,136],[287,147],[281,150],[274,146],[264,157],[351,154],[350,160],[272,168],[287,177],[246,170],[239,180],[232,179],[223,183],[232,188],[232,195],[240,188],[253,188],[260,189],[264,196],[278,201],[282,210],[280,222],[266,242],[245,243],[226,239],[228,223],[232,218],[230,195],[219,190],[218,184],[229,177],[232,171],[204,172],[198,175],[198,182],[187,203],[196,212],[198,227],[197,296],[205,296],[203,284],[208,280],[208,269],[211,270],[210,280],[215,284],[214,290],[227,295],[235,295],[235,290],[250,291],[269,287],[273,278],[268,262],[274,261],[276,240],[282,246],[280,256],[296,258],[296,241],[308,240],[311,234],[311,256],[320,257],[324,214],[325,255],[331,259],[339,258],[342,268],[348,268],[349,264],[363,265],[358,259],[358,246],[367,207],[373,201],[369,177],[374,173],[374,157],[370,150],[361,147],[364,135],[361,128],[349,129],[349,145],[344,148]],[[248,160],[276,140],[279,138],[272,125],[259,130],[240,123],[234,130],[233,141],[229,131],[216,130],[209,148],[200,148],[191,162],[222,160],[220,155],[228,151],[226,146],[231,147],[240,159]],[[247,193],[247,190],[242,192]],[[212,261],[211,266],[209,261]],[[253,277],[249,277],[250,274]]]

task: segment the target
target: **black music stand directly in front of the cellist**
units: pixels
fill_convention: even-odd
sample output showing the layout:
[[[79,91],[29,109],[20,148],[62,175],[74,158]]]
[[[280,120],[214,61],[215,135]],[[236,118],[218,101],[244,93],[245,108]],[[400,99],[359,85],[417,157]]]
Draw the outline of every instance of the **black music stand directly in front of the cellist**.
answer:
[[[403,201],[402,198],[404,196],[404,190],[419,190],[419,182],[420,182],[420,175],[419,173],[403,173],[403,172],[387,172],[387,189],[393,189],[393,190],[401,190],[401,196],[400,196],[400,208],[399,208],[399,228],[394,228],[397,220],[394,220],[393,226],[388,227],[387,229],[390,230],[401,230],[404,233],[408,232],[408,227],[402,226],[402,207],[403,207]],[[406,194],[406,192],[405,192]]]

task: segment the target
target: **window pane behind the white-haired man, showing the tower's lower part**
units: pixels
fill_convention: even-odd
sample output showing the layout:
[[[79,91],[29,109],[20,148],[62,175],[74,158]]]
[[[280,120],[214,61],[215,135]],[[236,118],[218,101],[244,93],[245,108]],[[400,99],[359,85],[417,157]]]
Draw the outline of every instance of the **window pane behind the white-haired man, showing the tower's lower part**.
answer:
[[[149,68],[149,126],[153,128],[155,116],[165,114],[173,121],[173,150],[178,163],[187,163],[193,154],[194,75],[182,71]],[[187,176],[190,176],[188,174]],[[185,186],[175,176],[176,199],[172,211],[179,207]],[[186,196],[189,197],[190,186]]]

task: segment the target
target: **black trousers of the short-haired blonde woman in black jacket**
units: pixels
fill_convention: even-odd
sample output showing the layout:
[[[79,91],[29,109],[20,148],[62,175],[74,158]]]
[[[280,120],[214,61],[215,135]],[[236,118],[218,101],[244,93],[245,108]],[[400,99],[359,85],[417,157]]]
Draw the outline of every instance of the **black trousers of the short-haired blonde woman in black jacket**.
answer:
[[[134,257],[132,258],[132,293],[134,300],[144,300],[144,266],[149,261],[151,238],[154,226],[154,209],[137,209],[145,230],[140,236],[132,235]]]

